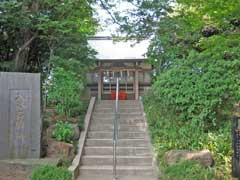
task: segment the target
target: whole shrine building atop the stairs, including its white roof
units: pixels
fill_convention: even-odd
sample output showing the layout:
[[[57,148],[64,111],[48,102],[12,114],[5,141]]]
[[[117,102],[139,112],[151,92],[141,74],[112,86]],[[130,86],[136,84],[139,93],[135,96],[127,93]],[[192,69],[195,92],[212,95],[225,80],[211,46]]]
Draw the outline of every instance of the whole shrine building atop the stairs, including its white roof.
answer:
[[[98,53],[96,67],[87,74],[91,96],[114,99],[117,77],[121,100],[137,100],[150,88],[152,66],[145,62],[147,40],[114,42],[111,37],[94,37],[89,44]]]

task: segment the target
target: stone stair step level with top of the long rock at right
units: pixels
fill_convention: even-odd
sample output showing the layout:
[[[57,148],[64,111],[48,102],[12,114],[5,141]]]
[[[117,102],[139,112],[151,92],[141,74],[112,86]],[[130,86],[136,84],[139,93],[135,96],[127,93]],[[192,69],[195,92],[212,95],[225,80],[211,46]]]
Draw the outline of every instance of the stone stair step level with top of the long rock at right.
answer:
[[[84,155],[111,155],[113,154],[112,147],[85,147]],[[150,149],[146,147],[118,147],[118,156],[150,156]]]

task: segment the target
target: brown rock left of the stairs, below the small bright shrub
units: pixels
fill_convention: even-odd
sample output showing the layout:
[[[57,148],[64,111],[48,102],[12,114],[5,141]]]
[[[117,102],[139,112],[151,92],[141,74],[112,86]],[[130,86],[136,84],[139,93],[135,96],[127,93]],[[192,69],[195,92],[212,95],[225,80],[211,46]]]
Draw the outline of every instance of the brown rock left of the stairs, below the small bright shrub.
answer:
[[[74,147],[72,144],[58,141],[49,142],[47,157],[62,157],[72,159],[74,157]]]

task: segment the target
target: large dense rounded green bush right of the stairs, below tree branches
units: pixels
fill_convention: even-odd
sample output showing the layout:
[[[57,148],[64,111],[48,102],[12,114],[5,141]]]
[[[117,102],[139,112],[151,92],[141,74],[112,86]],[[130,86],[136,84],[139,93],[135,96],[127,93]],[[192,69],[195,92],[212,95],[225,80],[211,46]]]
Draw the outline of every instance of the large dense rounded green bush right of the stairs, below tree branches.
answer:
[[[153,85],[162,108],[205,130],[224,122],[240,100],[239,42],[239,34],[213,36],[199,42],[203,52],[173,59]]]

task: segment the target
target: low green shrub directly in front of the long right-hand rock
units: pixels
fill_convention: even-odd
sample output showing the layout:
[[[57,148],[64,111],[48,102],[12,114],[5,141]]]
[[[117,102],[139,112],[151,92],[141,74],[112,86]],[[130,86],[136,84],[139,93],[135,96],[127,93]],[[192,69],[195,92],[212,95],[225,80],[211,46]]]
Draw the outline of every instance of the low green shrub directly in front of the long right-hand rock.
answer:
[[[183,161],[165,169],[164,180],[216,180],[214,170],[191,161]]]

